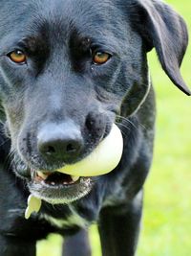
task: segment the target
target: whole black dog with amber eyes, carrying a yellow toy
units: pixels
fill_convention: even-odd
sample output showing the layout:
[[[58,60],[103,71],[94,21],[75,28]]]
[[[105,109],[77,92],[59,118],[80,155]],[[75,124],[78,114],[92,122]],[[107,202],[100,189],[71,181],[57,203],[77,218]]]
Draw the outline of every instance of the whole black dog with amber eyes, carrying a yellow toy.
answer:
[[[51,232],[67,236],[64,255],[90,255],[93,221],[104,256],[135,254],[155,126],[146,54],[155,47],[190,95],[179,69],[187,37],[160,0],[0,1],[0,256],[34,256]],[[114,122],[124,151],[113,172],[55,172],[94,151]],[[43,204],[25,220],[30,194]]]

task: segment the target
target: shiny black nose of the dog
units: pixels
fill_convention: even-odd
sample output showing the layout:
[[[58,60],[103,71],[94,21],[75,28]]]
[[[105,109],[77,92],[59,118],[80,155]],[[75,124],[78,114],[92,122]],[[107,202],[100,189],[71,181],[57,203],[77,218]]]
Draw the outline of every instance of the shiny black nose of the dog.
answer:
[[[74,123],[48,124],[37,135],[41,155],[52,161],[73,161],[83,146],[80,129]]]

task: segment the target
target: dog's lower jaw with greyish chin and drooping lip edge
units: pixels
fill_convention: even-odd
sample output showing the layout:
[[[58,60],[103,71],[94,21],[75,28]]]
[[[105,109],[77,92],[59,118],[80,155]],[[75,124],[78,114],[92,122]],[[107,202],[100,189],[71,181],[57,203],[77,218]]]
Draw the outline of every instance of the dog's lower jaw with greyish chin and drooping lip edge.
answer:
[[[93,186],[94,181],[91,177],[79,177],[73,182],[52,182],[46,183],[41,177],[36,178],[37,171],[30,168],[20,158],[15,158],[13,163],[13,172],[18,178],[23,179],[29,192],[36,198],[40,198],[51,204],[68,204],[87,196]],[[62,175],[57,172],[52,174]],[[70,175],[69,175],[70,176]],[[71,177],[72,178],[72,177]],[[73,179],[73,178],[72,178]]]

